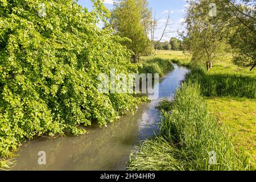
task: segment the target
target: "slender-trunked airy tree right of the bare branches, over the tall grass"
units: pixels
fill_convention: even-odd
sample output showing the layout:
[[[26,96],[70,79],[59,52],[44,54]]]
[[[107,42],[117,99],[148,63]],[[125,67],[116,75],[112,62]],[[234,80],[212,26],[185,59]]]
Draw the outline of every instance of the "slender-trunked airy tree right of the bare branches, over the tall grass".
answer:
[[[192,63],[212,67],[217,57],[224,55],[229,48],[222,28],[224,22],[209,15],[209,3],[191,1],[187,10],[186,48],[192,53]]]

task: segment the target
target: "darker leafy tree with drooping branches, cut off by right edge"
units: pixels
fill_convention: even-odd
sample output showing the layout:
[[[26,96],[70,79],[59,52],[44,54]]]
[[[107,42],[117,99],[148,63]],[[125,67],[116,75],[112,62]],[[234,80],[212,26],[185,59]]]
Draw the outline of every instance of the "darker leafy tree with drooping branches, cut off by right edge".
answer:
[[[256,66],[256,13],[255,0],[230,1],[218,0],[220,5],[221,20],[228,19],[225,27],[229,36],[229,44],[233,48],[234,64],[251,67]],[[230,30],[231,34],[230,34]]]

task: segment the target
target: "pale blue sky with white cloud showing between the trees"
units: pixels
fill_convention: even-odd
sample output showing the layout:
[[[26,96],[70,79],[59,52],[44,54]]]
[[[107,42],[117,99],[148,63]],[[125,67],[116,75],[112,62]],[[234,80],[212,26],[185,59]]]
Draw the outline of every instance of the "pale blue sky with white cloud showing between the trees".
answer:
[[[92,10],[92,3],[90,0],[79,0],[78,3],[82,7],[86,7],[88,10]],[[156,18],[159,18],[159,30],[155,33],[155,40],[159,40],[163,32],[163,27],[165,25],[168,11],[171,13],[171,33],[168,34],[168,38],[163,38],[162,41],[170,40],[170,37],[179,38],[178,32],[184,30],[184,18],[185,9],[188,5],[186,0],[148,0],[149,7],[152,9],[153,13],[156,13]],[[105,0],[105,6],[111,10],[113,9],[113,0]],[[100,24],[99,27],[102,25]]]

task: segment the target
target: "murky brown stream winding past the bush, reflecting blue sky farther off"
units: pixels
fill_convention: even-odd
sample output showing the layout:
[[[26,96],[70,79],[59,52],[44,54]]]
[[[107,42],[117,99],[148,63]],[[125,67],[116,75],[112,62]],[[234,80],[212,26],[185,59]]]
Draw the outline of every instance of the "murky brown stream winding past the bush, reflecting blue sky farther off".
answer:
[[[139,141],[158,131],[155,105],[174,96],[188,69],[178,67],[159,82],[159,99],[143,104],[135,115],[127,114],[108,127],[93,125],[80,137],[28,141],[18,152],[13,170],[123,170],[130,151]],[[38,152],[46,152],[46,165],[38,164]]]

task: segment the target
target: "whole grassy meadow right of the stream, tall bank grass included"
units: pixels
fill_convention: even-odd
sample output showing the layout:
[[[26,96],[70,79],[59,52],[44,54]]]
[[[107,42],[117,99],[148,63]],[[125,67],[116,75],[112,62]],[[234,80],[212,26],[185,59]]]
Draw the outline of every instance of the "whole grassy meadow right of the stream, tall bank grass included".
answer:
[[[180,63],[183,64],[179,65],[190,65],[189,57],[184,56],[182,52],[159,51],[156,57],[180,59]],[[249,69],[233,65],[230,55],[220,57],[215,61],[209,72],[192,68],[185,80],[185,86],[183,85],[181,90],[177,91],[175,101],[166,100],[157,106],[163,113],[160,128],[162,133],[155,138],[146,140],[134,151],[128,169],[255,169],[256,70],[249,71]],[[186,89],[190,89],[190,92],[185,92]],[[196,96],[197,89],[200,90],[199,93],[203,98]],[[184,102],[182,103],[181,100]],[[193,105],[193,103],[197,104]],[[197,110],[197,108],[200,109]],[[166,111],[169,114],[166,115]],[[209,119],[211,117],[212,119]],[[202,121],[208,123],[208,126],[202,124]],[[218,127],[213,127],[215,132],[210,130],[211,123],[214,121],[218,125]],[[205,131],[201,128],[202,126],[205,127]],[[202,132],[204,133],[203,137],[206,138],[212,132],[218,133],[220,140],[218,143],[214,143],[216,140],[213,140],[212,143],[207,144],[196,137],[192,143],[187,143]],[[208,139],[211,140],[213,136],[211,135]],[[185,145],[184,148],[181,147],[182,144]],[[209,167],[207,162],[200,161],[200,158],[205,159],[206,156],[198,154],[201,151],[209,150],[209,148],[204,148],[207,146],[218,146],[217,148],[222,149],[227,147],[227,151],[231,153],[225,155],[223,150],[222,152],[217,151],[217,156],[221,156],[222,159],[218,160],[218,167],[211,168],[212,166]],[[233,150],[236,152],[233,153]],[[168,155],[166,155],[167,153]],[[242,161],[245,158],[245,163],[249,164],[249,168],[243,165]],[[196,165],[193,166],[192,163]]]

